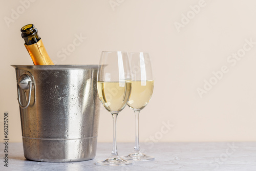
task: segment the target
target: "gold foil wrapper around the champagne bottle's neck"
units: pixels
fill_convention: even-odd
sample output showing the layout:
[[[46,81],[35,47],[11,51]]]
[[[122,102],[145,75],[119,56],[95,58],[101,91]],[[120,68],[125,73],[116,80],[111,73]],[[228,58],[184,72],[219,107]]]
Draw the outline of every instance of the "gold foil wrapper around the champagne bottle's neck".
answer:
[[[33,45],[25,45],[29,55],[31,56],[34,65],[54,65],[49,57],[42,40],[36,42]]]

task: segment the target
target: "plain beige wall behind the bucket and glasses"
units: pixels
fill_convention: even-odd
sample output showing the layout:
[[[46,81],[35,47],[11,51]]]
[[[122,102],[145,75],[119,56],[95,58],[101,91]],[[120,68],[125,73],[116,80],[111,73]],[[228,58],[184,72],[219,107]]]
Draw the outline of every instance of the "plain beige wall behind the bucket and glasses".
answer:
[[[19,31],[30,23],[56,64],[98,64],[101,51],[150,53],[155,89],[141,112],[141,143],[256,141],[255,6],[253,0],[2,1],[0,141],[4,112],[10,141],[22,141],[10,65],[33,64]],[[69,55],[61,52],[78,35],[86,38]],[[134,141],[134,121],[132,110],[120,113],[118,142]],[[112,141],[105,109],[98,141]]]

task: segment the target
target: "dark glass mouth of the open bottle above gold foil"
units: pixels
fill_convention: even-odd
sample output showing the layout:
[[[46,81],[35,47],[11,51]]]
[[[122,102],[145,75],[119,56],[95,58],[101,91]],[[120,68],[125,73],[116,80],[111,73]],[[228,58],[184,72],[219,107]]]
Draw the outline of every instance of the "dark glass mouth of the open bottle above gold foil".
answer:
[[[25,40],[25,45],[33,45],[41,38],[38,35],[38,31],[33,24],[26,25],[20,29],[22,32],[22,38]]]

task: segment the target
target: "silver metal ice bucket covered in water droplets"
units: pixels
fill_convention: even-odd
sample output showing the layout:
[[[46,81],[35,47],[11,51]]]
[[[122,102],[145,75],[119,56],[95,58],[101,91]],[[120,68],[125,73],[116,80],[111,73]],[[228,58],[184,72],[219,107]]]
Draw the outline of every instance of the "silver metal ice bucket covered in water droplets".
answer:
[[[45,162],[95,157],[96,65],[16,66],[24,156]]]

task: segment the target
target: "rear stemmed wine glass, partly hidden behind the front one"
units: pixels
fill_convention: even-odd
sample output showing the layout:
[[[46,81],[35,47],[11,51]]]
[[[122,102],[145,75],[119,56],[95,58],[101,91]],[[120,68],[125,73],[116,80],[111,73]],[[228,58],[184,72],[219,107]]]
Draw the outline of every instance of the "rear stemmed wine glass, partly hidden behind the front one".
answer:
[[[154,88],[151,60],[148,53],[144,52],[131,52],[129,56],[133,78],[131,96],[127,104],[135,113],[136,136],[134,152],[124,156],[124,158],[144,161],[154,160],[153,156],[141,153],[139,146],[139,113],[150,101]]]

